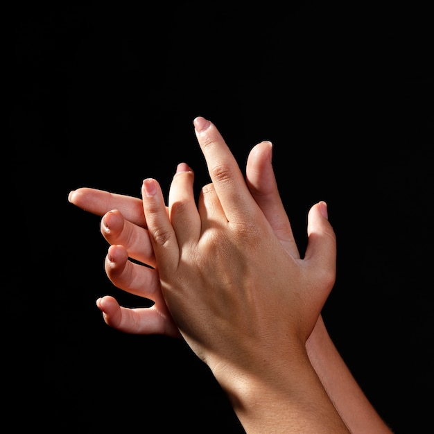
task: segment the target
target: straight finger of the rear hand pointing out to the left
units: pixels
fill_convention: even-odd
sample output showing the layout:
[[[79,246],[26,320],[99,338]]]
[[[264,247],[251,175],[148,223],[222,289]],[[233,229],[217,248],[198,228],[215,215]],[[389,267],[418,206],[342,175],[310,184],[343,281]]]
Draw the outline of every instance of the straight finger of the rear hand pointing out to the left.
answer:
[[[111,209],[119,209],[124,218],[134,225],[147,227],[143,204],[139,198],[82,187],[71,191],[68,200],[73,205],[97,216],[103,216]]]

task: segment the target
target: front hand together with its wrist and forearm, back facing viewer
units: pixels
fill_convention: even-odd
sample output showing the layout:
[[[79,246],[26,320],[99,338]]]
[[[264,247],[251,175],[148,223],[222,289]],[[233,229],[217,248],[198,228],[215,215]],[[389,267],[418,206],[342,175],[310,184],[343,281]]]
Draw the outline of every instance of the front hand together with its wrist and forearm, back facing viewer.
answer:
[[[287,240],[287,251],[276,236],[218,130],[203,118],[194,123],[212,181],[198,206],[186,164],[177,167],[168,208],[156,180],[142,186],[168,310],[246,431],[347,433],[306,352],[335,276],[325,203],[309,211],[300,259],[295,243]]]

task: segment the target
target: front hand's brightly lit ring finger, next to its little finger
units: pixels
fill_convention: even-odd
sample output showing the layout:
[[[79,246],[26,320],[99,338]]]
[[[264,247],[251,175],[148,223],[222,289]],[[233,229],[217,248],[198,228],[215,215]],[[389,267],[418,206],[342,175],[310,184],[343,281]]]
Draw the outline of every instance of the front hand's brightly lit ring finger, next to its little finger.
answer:
[[[200,216],[193,193],[194,173],[185,163],[178,164],[168,195],[168,209],[177,242],[197,241]]]

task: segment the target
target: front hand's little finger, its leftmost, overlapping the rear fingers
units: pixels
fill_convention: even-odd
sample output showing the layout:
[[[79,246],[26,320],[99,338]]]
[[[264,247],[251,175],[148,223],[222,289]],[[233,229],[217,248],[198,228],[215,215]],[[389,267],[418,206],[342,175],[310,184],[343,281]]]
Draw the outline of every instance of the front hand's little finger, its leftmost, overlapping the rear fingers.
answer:
[[[180,250],[177,244],[175,230],[168,218],[162,189],[156,180],[148,178],[141,186],[143,208],[146,222],[148,223],[148,234],[153,244],[155,258],[162,258],[159,261],[159,268],[165,268],[171,272],[177,267],[180,257]]]

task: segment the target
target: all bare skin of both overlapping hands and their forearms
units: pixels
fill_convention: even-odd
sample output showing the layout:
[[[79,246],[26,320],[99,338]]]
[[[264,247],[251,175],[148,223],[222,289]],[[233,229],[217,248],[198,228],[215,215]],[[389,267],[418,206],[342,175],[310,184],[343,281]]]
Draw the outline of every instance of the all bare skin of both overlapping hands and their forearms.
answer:
[[[79,189],[71,193],[71,202],[94,214],[103,215],[110,209],[119,209],[105,214],[101,225],[103,235],[112,244],[106,261],[107,275],[119,288],[155,300],[155,305],[149,309],[125,309],[112,297],[103,297],[98,300],[98,306],[103,311],[105,321],[112,327],[128,333],[163,333],[179,337],[181,331],[196,354],[210,365],[211,370],[215,371],[216,378],[225,385],[229,399],[248,432],[257,432],[254,430],[261,424],[264,424],[262,430],[265,429],[264,426],[267,427],[267,432],[293,432],[289,431],[291,426],[296,430],[294,432],[304,432],[302,426],[305,426],[306,432],[312,432],[311,430],[319,429],[320,426],[321,432],[328,432],[324,431],[324,427],[329,425],[333,427],[331,428],[333,432],[340,432],[339,430],[347,432],[345,428],[347,424],[354,433],[391,433],[349,374],[320,317],[322,304],[333,286],[336,263],[336,239],[327,221],[327,207],[320,202],[309,212],[309,246],[304,259],[301,260],[275,185],[270,144],[263,142],[252,150],[248,159],[246,180],[243,180],[220,134],[214,125],[209,125],[209,128],[211,131],[207,128],[208,132],[205,136],[202,132],[198,132],[198,139],[201,146],[206,147],[209,141],[207,134],[209,132],[215,134],[214,139],[209,143],[216,146],[218,152],[205,154],[211,178],[214,173],[214,180],[212,185],[205,186],[199,209],[194,205],[191,196],[193,172],[185,165],[178,167],[168,208],[164,205],[161,191],[155,180],[144,182],[145,187],[155,188],[151,194],[144,192],[144,208],[141,208],[139,199],[128,196],[92,189]],[[220,176],[221,174],[214,170],[216,166],[229,168],[231,176]],[[148,183],[150,185],[147,185]],[[220,186],[219,191],[217,186]],[[222,196],[221,200],[220,196]],[[233,200],[234,197],[236,201]],[[159,202],[154,203],[153,200]],[[232,203],[239,204],[240,200],[242,205],[238,210],[232,207]],[[171,211],[170,219],[168,211]],[[153,222],[152,231],[146,229],[149,229],[146,220],[148,225],[149,222]],[[245,225],[246,221],[253,221],[254,227],[250,225],[250,229],[246,229],[248,226]],[[186,222],[189,223],[187,226],[191,227],[192,232],[189,234],[186,234],[188,232],[185,230]],[[258,234],[259,223],[261,231]],[[164,227],[163,231],[162,227]],[[203,229],[204,227],[206,229]],[[169,234],[169,237],[166,239],[165,236],[166,241],[159,243],[157,240],[161,241],[162,238],[153,236],[155,231],[157,234]],[[170,238],[182,239],[183,236],[185,241],[182,245],[178,244],[179,241],[174,245],[168,242]],[[216,239],[226,240],[223,246],[220,244],[218,246],[228,249],[225,257],[221,259],[221,269],[214,273],[218,275],[218,279],[213,280],[210,285],[208,277],[202,276],[202,279],[206,279],[199,280],[193,286],[218,288],[222,296],[203,300],[203,292],[195,293],[186,288],[182,289],[179,282],[187,282],[190,288],[191,282],[200,276],[200,269],[207,267],[205,269],[208,270],[210,266],[215,265],[215,261],[213,264],[207,263],[207,258],[215,259],[216,254],[218,255],[216,243],[209,242]],[[233,240],[238,244],[232,243]],[[192,245],[196,250],[191,247]],[[248,248],[248,245],[261,245],[261,250],[256,247]],[[169,250],[166,251],[166,248]],[[209,252],[209,249],[214,252],[211,256],[208,253],[203,254]],[[234,250],[238,253],[234,254]],[[240,257],[240,251],[253,254],[253,257],[243,255],[239,267],[235,268],[243,269],[243,275],[234,276],[230,273],[225,275],[228,269],[234,268],[233,259]],[[270,255],[266,255],[270,258],[270,263],[265,266],[263,259],[264,252],[267,251],[270,252]],[[170,310],[167,309],[167,304],[162,297],[162,287],[159,283],[162,268],[161,263],[155,261],[155,256],[158,258],[157,252],[160,257],[163,255],[164,263],[169,265],[172,263],[171,267],[174,267],[169,268],[163,276],[177,276],[176,284],[171,282],[172,277],[166,278],[166,281],[164,277],[162,279],[167,285],[165,289],[163,286],[163,293]],[[254,257],[257,252],[261,252],[259,259]],[[138,266],[128,261],[128,256],[157,267],[157,270]],[[171,260],[166,261],[167,257]],[[194,258],[198,262],[187,261],[189,266],[186,266],[186,271],[178,270],[174,264],[180,263],[180,257],[189,261]],[[225,261],[228,260],[231,268],[225,266]],[[260,264],[258,260],[261,261]],[[257,266],[252,267],[252,263],[257,263]],[[264,268],[275,271],[265,275],[263,272],[256,274]],[[288,269],[287,274],[281,273],[279,278],[273,277],[275,289],[271,290],[270,276],[279,275],[281,268]],[[229,290],[229,284],[220,287],[218,284],[222,276],[226,276],[223,281],[238,281],[238,285],[232,290]],[[294,276],[298,279],[298,283],[288,290],[288,281],[294,280]],[[274,281],[273,279],[271,281]],[[246,284],[246,281],[251,283]],[[257,286],[257,290],[254,290],[254,296],[252,294],[248,296],[247,300],[252,302],[249,307],[243,297],[249,294],[254,286]],[[305,289],[300,293],[297,292],[297,287]],[[245,290],[240,291],[241,288]],[[234,298],[234,294],[237,294],[238,298]],[[272,295],[275,297],[273,298]],[[266,299],[261,302],[262,297]],[[216,298],[217,301],[226,300],[226,303],[218,304]],[[208,317],[204,319],[198,315],[198,311],[207,311],[207,309],[198,309],[197,306],[200,304],[207,306],[207,309],[209,306],[214,306],[211,319]],[[227,312],[228,304],[238,306],[234,313]],[[246,304],[248,307],[244,308]],[[259,309],[261,306],[268,307],[261,310]],[[297,306],[300,311],[290,313],[294,312],[294,306]],[[175,315],[175,321],[169,311]],[[240,313],[245,316],[240,316]],[[290,320],[288,320],[288,313],[290,313]],[[223,314],[229,315],[229,318]],[[209,321],[213,324],[213,318],[214,321],[215,318],[223,318],[223,325],[220,324],[221,329],[218,329],[218,333],[215,327],[204,329],[204,326],[201,329],[200,324],[209,324]],[[252,318],[256,320],[252,321]],[[189,324],[196,324],[197,327],[191,329]],[[245,329],[245,324],[250,324],[250,327]],[[255,324],[257,327],[252,328]],[[200,330],[200,333],[196,329]],[[221,336],[225,336],[223,342],[220,342]],[[250,342],[250,345],[245,345],[246,342]],[[238,347],[244,352],[238,351],[241,356],[235,360],[230,356],[231,348],[238,349]],[[282,349],[281,353],[275,351],[276,347]],[[252,349],[257,350],[252,353]],[[270,354],[273,356],[268,360]],[[250,361],[256,362],[250,363]],[[264,363],[269,367],[266,371],[263,370]],[[297,367],[294,371],[297,372],[297,376],[288,378],[289,367],[292,370]],[[343,375],[342,370],[344,370]],[[265,378],[264,372],[268,372]],[[271,372],[273,375],[270,378]],[[318,381],[318,377],[322,383]],[[237,383],[235,390],[233,390],[234,378],[242,379]],[[336,379],[344,387],[342,384],[335,386],[339,384],[336,383]],[[327,390],[328,397],[324,395],[324,388]],[[306,390],[312,392],[308,401],[305,399]],[[346,392],[342,393],[342,390]],[[240,391],[241,396],[239,396]],[[265,401],[252,402],[254,401],[252,398],[257,396],[257,393],[261,393]],[[321,405],[318,408],[315,406],[313,410],[310,405],[313,402]],[[345,424],[342,424],[337,413],[335,414],[334,407],[330,406],[331,402],[334,403]],[[288,410],[288,403],[291,410]],[[271,411],[268,406],[274,410]],[[275,427],[275,431],[270,431],[272,426]]]

